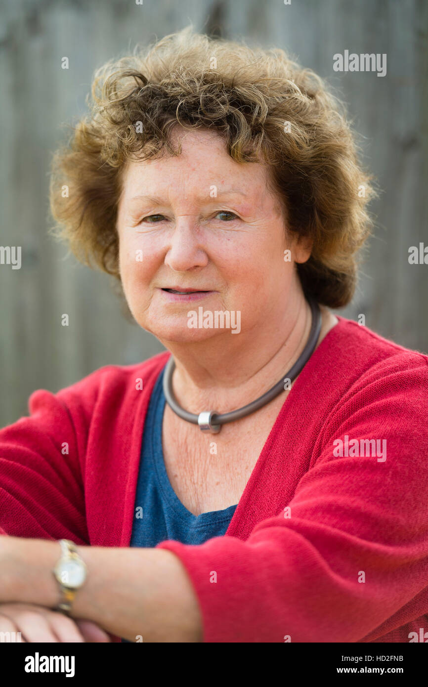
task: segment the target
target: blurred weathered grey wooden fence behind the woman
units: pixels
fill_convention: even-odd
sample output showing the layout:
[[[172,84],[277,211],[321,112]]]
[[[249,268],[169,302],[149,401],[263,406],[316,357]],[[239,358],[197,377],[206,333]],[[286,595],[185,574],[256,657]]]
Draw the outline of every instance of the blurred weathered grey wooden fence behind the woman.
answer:
[[[190,21],[289,50],[346,100],[382,193],[359,291],[338,312],[364,313],[381,335],[428,352],[428,265],[407,260],[409,246],[428,245],[425,0],[3,0],[0,8],[0,245],[23,250],[20,270],[0,265],[0,425],[27,412],[35,389],[56,391],[162,349],[124,319],[106,275],[80,267],[47,235],[47,171],[61,124],[85,110],[95,67]],[[333,54],[345,49],[386,53],[387,75],[334,72]]]

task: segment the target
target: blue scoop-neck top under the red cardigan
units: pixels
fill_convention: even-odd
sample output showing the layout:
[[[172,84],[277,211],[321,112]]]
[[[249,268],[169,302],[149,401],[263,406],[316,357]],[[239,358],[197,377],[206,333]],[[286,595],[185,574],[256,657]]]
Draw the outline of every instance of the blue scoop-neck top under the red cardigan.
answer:
[[[193,515],[174,492],[162,449],[162,419],[166,398],[161,371],[150,396],[144,423],[131,546],[154,547],[166,539],[201,544],[225,534],[236,506]]]

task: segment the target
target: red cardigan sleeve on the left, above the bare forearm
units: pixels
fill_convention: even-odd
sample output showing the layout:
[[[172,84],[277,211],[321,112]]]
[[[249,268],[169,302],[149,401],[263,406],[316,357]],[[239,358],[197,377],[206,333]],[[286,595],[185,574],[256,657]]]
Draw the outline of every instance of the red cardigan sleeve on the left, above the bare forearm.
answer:
[[[0,429],[0,534],[88,542],[78,442],[67,390],[38,390],[30,416]]]

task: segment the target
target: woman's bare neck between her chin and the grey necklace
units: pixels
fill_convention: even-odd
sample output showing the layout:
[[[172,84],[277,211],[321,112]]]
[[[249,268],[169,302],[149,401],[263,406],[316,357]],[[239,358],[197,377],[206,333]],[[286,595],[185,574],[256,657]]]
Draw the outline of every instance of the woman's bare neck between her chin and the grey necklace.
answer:
[[[338,322],[327,308],[321,311],[317,346]],[[193,413],[203,409],[226,413],[254,401],[286,376],[306,346],[311,324],[311,308],[302,296],[293,313],[283,317],[282,326],[278,320],[270,327],[264,323],[256,336],[227,333],[221,335],[224,343],[219,337],[196,344],[165,343],[176,363],[174,396]],[[279,333],[284,335],[280,338]]]

